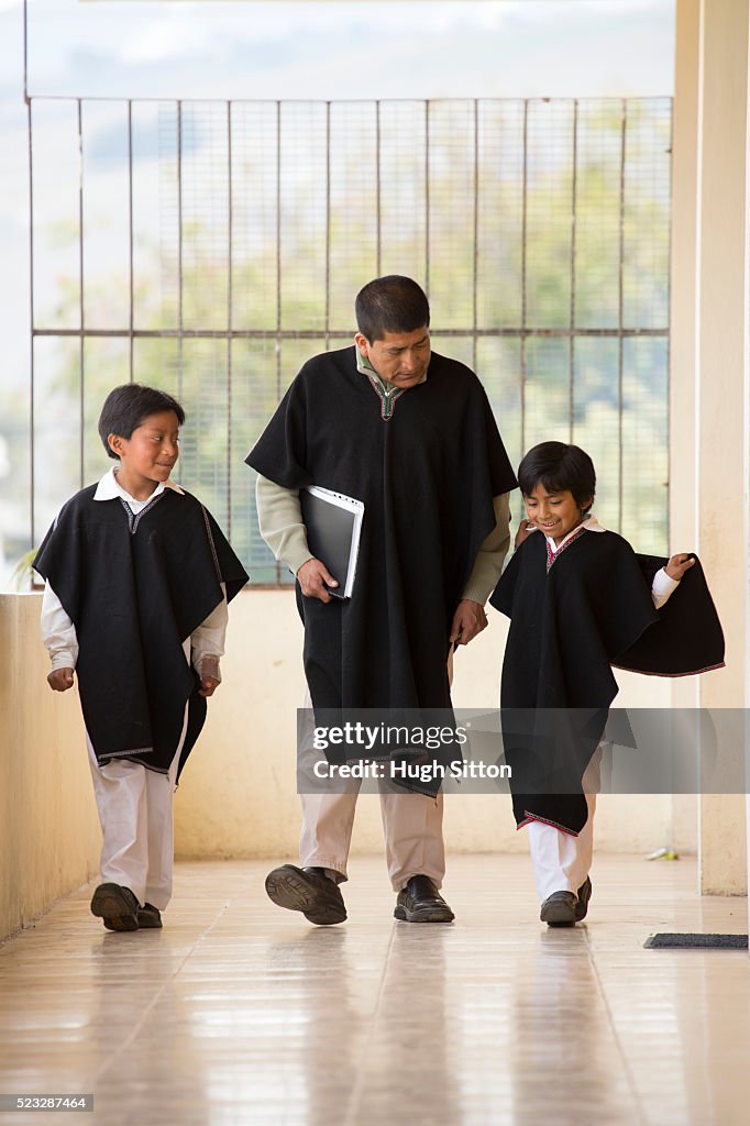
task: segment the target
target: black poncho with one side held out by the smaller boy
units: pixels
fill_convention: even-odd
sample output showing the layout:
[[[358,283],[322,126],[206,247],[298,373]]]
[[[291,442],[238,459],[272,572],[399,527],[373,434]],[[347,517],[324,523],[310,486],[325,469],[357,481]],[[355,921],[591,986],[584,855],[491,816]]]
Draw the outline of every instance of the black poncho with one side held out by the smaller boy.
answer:
[[[699,563],[660,611],[650,581],[668,561],[636,556],[614,531],[584,531],[547,571],[544,535],[517,549],[490,602],[510,622],[500,704],[520,826],[586,824],[586,767],[617,695],[616,664],[682,676],[723,663],[724,642]]]

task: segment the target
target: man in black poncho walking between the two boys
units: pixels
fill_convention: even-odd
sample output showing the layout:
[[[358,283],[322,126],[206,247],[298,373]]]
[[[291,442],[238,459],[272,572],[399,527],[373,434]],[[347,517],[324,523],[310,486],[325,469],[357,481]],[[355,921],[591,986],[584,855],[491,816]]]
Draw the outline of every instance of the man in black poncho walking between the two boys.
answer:
[[[411,278],[376,278],[356,300],[355,346],[309,360],[247,462],[259,526],[297,578],[313,708],[449,708],[453,643],[486,626],[484,602],[510,540],[510,463],[476,376],[430,351],[430,311]],[[350,599],[314,558],[300,490],[364,502]],[[279,906],[343,922],[356,787],[303,794],[300,867],[271,872]],[[443,798],[381,793],[394,914],[449,922]]]

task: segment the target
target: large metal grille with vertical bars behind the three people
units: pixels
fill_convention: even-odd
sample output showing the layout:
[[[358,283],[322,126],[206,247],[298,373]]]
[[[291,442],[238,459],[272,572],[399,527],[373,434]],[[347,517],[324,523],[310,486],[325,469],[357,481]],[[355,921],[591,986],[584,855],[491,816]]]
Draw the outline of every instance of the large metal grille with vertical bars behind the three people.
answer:
[[[511,459],[578,443],[602,522],[666,549],[670,134],[666,98],[32,99],[33,538],[106,468],[98,410],[137,379],[184,402],[180,480],[255,582],[288,581],[242,458],[399,272]]]

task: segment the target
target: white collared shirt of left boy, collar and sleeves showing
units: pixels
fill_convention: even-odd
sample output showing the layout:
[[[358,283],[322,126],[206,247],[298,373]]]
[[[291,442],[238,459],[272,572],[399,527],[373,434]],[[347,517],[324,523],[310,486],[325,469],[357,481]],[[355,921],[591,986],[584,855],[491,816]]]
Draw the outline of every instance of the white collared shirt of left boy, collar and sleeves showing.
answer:
[[[124,500],[130,506],[131,511],[137,516],[137,513],[144,509],[146,504],[150,504],[155,497],[163,493],[164,489],[172,489],[176,493],[179,493],[180,497],[185,495],[185,490],[180,489],[175,481],[168,480],[160,481],[151,495],[146,497],[145,500],[136,500],[135,497],[131,497],[131,494],[119,484],[117,481],[117,466],[113,466],[111,470],[105,473],[97,484],[93,500]],[[193,650],[193,664],[195,665],[198,674],[202,674],[204,659],[213,659],[213,668],[215,668],[215,672],[213,671],[213,668],[206,668],[205,672],[207,676],[215,677],[216,680],[221,680],[221,676],[218,673],[218,659],[224,655],[224,637],[226,634],[226,624],[229,622],[226,588],[224,583],[221,586],[224,593],[223,600],[214,610],[211,611],[206,620],[203,622],[185,642],[185,655],[189,661],[190,650]],[[42,598],[41,625],[42,640],[44,641],[45,649],[50,653],[52,661],[51,671],[55,672],[57,669],[74,669],[78,661],[79,649],[75,626],[65,613],[62,602],[48,582],[45,584],[44,596]]]

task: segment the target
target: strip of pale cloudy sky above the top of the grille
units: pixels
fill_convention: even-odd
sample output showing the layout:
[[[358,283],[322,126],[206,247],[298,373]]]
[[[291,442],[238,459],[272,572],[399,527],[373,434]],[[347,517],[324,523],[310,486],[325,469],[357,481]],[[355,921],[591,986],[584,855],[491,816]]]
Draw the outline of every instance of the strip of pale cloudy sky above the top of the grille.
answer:
[[[0,0],[0,18],[16,8]],[[672,28],[672,0],[29,0],[29,87],[221,98],[663,95]]]

